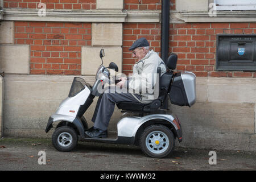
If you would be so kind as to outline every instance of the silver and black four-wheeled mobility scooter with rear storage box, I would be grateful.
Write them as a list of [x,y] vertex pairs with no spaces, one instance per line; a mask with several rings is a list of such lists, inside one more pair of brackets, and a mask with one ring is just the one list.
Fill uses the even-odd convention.
[[[59,151],[71,151],[77,146],[77,141],[104,142],[114,144],[133,144],[140,146],[144,154],[152,158],[164,158],[171,154],[175,140],[182,141],[182,130],[179,119],[174,114],[167,113],[165,101],[170,98],[171,104],[192,106],[196,101],[196,76],[192,72],[178,72],[176,68],[177,55],[171,54],[167,60],[168,71],[160,76],[158,68],[159,97],[149,104],[141,102],[119,102],[123,116],[117,123],[116,138],[88,138],[85,130],[88,123],[84,117],[85,111],[92,104],[94,97],[101,96],[98,90],[109,83],[110,71],[118,72],[115,63],[104,67],[102,64],[96,73],[96,81],[89,85],[83,78],[73,79],[68,98],[63,100],[55,114],[49,117],[46,133],[55,126],[52,134],[52,144]],[[111,122],[111,121],[110,121]],[[54,127],[53,127],[54,128]]]

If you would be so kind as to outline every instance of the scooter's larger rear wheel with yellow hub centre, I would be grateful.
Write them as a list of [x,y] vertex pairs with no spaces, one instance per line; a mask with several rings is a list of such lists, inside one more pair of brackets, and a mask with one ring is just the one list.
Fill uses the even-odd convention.
[[150,125],[141,134],[139,144],[144,154],[152,158],[164,158],[174,149],[175,137],[164,125]]

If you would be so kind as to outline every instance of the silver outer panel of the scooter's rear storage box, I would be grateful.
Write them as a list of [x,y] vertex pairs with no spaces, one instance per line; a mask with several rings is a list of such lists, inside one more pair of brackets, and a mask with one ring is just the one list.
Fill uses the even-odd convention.
[[192,72],[182,72],[181,78],[187,95],[188,104],[192,106],[196,102],[196,75]]

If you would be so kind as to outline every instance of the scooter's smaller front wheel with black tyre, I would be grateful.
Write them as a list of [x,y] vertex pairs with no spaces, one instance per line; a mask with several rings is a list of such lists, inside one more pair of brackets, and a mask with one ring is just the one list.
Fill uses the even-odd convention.
[[61,126],[52,134],[52,144],[59,151],[71,151],[77,146],[77,133],[72,127]]

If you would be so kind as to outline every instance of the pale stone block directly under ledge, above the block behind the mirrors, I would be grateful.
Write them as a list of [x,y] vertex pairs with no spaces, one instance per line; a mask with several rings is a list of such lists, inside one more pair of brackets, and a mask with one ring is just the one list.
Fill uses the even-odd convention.
[[92,23],[92,46],[122,46],[122,23]]

